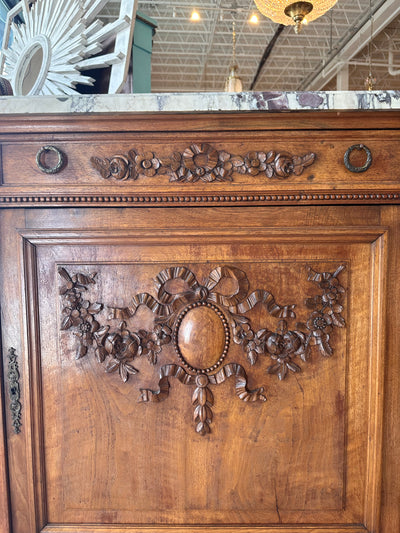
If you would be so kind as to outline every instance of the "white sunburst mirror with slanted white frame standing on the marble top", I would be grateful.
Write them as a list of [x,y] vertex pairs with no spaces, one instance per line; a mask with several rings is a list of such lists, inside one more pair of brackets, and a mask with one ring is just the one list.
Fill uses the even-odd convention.
[[[108,92],[119,92],[128,72],[138,0],[121,0],[119,18],[104,25],[96,16],[108,1],[18,2],[7,16],[0,59],[0,73],[14,95],[78,94],[77,84],[94,82],[82,71],[108,66]],[[23,23],[15,22],[20,14]],[[114,51],[102,54],[110,38],[115,38]]]

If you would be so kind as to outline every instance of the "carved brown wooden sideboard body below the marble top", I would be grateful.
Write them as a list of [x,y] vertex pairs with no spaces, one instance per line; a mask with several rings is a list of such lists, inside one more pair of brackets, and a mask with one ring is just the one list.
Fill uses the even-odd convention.
[[0,531],[400,530],[400,112],[0,118]]

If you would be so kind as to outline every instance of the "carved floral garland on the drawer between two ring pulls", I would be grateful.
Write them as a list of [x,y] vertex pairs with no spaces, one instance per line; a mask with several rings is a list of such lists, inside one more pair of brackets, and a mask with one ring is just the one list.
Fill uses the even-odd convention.
[[173,152],[165,158],[159,158],[153,152],[138,154],[132,149],[127,154],[110,158],[94,156],[90,162],[104,179],[126,181],[136,180],[139,176],[152,178],[167,174],[171,182],[211,183],[233,181],[235,172],[285,180],[292,175],[300,176],[315,158],[316,154],[312,152],[298,156],[273,150],[239,156],[217,150],[208,143],[194,143],[183,152]]

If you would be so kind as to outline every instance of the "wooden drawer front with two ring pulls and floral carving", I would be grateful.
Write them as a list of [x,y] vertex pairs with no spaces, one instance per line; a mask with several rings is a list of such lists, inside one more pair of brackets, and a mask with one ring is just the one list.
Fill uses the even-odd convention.
[[223,193],[240,201],[400,191],[400,136],[387,131],[64,136],[4,143],[2,160],[2,192],[95,191],[150,201]]

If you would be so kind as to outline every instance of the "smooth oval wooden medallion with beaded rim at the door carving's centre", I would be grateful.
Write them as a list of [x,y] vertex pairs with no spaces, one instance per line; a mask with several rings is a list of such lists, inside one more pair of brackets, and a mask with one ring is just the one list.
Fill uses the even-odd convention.
[[224,314],[207,302],[188,305],[177,319],[174,345],[187,369],[205,373],[216,370],[229,348],[229,327]]

